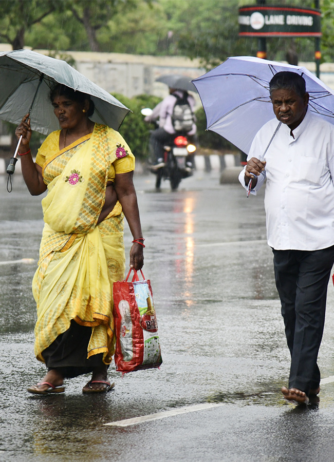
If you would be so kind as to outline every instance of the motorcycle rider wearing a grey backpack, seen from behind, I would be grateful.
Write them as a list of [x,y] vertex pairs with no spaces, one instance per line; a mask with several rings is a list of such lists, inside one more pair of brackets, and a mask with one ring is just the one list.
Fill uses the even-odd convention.
[[[189,138],[193,144],[197,143],[197,127],[195,124],[195,116],[188,131],[177,132],[174,128],[173,111],[174,106],[179,99],[186,100],[194,113],[195,99],[188,91],[179,90],[176,88],[169,89],[170,94],[165,97],[154,109],[151,115],[146,115],[145,122],[157,122],[158,128],[153,130],[150,137],[150,151],[152,156],[152,170],[164,167],[163,146],[174,142],[176,134],[182,134]],[[194,167],[194,155],[187,157],[186,168],[192,170]]]

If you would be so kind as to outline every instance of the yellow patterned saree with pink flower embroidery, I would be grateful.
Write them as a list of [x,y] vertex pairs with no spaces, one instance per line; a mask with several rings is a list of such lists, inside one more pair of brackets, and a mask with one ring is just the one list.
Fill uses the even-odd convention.
[[110,168],[126,156],[133,158],[120,134],[98,124],[62,150],[59,131],[53,132],[39,150],[36,162],[45,160],[48,188],[42,200],[45,226],[39,266],[32,282],[38,314],[35,355],[40,361],[72,319],[92,328],[87,357],[103,353],[106,364],[112,359],[112,287],[125,270],[120,203],[98,225],[97,220]]

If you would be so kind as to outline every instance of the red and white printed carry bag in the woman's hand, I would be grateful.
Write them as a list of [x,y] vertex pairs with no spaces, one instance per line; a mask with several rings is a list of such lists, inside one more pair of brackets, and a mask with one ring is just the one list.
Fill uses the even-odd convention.
[[151,282],[142,272],[140,281],[135,270],[132,282],[128,281],[131,271],[113,287],[115,363],[120,372],[158,368],[162,363]]

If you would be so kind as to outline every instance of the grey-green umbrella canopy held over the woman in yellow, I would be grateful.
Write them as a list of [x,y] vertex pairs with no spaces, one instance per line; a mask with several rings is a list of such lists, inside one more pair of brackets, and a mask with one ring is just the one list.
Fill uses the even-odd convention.
[[30,114],[34,131],[48,134],[59,129],[49,99],[50,88],[55,83],[90,95],[95,104],[94,114],[90,117],[93,122],[118,130],[129,112],[116,98],[65,61],[30,50],[15,50],[0,53],[0,119],[13,124],[21,122],[29,111],[42,74],[43,80]]

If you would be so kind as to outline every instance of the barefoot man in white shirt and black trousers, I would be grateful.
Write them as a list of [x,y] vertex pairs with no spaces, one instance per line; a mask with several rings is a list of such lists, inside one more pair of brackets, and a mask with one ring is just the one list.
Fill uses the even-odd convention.
[[239,181],[256,195],[267,179],[267,238],[291,353],[282,393],[308,403],[320,391],[317,357],[334,262],[334,126],[311,112],[301,75],[278,72],[269,89],[276,119],[257,132]]

